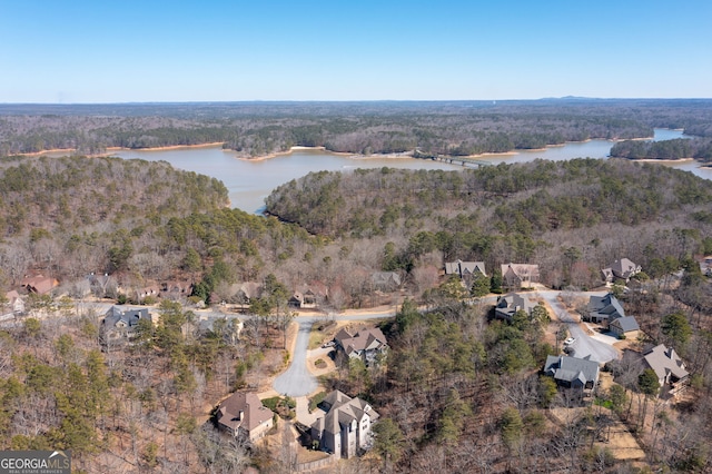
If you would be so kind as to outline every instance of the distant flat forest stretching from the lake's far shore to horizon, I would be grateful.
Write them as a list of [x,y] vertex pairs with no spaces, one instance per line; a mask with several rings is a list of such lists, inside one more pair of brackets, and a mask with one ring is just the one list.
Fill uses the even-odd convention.
[[476,155],[591,138],[710,136],[712,101],[238,102],[0,106],[0,156],[222,142],[245,157],[293,146],[352,154]]

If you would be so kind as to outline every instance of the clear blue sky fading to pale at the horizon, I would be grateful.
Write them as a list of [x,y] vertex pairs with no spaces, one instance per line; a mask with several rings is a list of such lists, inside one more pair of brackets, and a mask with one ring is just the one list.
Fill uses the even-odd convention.
[[0,102],[712,98],[712,1],[0,0]]

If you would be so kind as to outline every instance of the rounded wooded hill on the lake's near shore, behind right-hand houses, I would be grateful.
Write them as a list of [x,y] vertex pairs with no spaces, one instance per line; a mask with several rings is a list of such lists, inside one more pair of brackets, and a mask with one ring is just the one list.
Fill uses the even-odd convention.
[[711,200],[709,182],[690,174],[576,159],[462,172],[322,171],[277,188],[267,211],[314,234],[387,241],[385,269],[417,274],[433,255],[487,268],[535,261],[548,286],[591,287],[614,255],[645,268],[669,254],[680,259],[690,250],[673,250],[682,235],[711,251]]

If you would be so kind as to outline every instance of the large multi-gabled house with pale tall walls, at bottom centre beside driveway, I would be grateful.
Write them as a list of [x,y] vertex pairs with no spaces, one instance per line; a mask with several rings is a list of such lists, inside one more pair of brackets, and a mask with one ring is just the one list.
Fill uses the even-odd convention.
[[319,407],[326,414],[312,425],[312,438],[319,443],[320,450],[338,458],[349,458],[372,446],[370,428],[379,415],[366,402],[334,391]]

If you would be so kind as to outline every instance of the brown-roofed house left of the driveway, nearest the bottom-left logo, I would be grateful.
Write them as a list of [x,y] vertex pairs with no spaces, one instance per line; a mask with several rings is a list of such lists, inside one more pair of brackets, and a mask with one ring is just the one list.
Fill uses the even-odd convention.
[[274,426],[271,409],[254,393],[236,392],[218,405],[218,427],[235,437],[256,441]]

